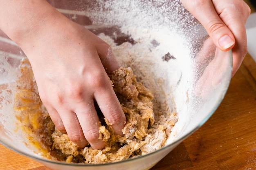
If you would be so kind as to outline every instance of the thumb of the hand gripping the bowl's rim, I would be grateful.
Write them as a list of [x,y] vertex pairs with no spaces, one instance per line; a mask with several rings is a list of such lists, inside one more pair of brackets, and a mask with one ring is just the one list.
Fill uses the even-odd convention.
[[198,19],[202,26],[204,26],[218,49],[228,51],[234,47],[234,35],[219,17],[220,14],[216,12],[212,1],[182,1],[184,7]]

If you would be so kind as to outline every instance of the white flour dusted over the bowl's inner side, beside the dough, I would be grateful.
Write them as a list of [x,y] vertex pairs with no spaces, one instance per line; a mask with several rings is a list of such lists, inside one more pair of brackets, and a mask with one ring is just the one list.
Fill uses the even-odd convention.
[[[159,110],[155,114],[162,115],[170,109],[182,117],[169,137],[167,144],[171,143],[189,119],[185,115],[191,107],[189,96],[195,77],[193,53],[196,53],[191,50],[191,40],[198,35],[185,28],[201,29],[198,22],[191,15],[184,17],[188,11],[180,0],[98,2],[90,18],[95,29],[105,28],[109,35],[101,33],[99,37],[110,44],[121,65],[131,67],[139,81],[153,92],[154,107]],[[112,29],[118,31],[111,32]],[[117,45],[116,40],[123,34],[135,43]],[[166,54],[173,57],[163,60]]]

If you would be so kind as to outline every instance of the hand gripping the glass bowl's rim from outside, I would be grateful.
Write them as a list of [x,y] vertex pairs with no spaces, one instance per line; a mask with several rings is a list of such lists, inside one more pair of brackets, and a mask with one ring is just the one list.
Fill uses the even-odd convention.
[[214,44],[222,51],[232,49],[233,73],[247,53],[245,24],[250,14],[243,0],[181,0],[204,26]]

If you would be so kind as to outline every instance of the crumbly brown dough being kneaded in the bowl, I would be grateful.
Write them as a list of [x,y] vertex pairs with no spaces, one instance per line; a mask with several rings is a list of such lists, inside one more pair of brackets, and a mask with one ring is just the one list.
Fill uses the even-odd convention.
[[[106,142],[102,150],[91,146],[79,148],[67,134],[54,129],[47,110],[40,101],[36,82],[27,59],[20,64],[16,90],[16,117],[24,132],[30,133],[31,144],[44,157],[69,163],[107,163],[145,155],[165,145],[177,122],[175,112],[154,115],[153,94],[137,82],[131,68],[119,68],[109,75],[114,91],[126,115],[124,137],[116,135],[107,119],[101,120],[100,139]],[[155,121],[155,119],[157,121]]]

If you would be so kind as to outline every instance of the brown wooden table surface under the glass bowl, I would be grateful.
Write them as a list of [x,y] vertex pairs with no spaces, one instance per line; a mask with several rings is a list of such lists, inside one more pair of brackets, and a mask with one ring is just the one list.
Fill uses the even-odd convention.
[[[50,168],[0,144],[0,170]],[[256,170],[256,62],[249,54],[213,116],[151,170]]]

